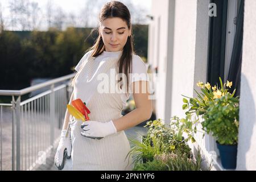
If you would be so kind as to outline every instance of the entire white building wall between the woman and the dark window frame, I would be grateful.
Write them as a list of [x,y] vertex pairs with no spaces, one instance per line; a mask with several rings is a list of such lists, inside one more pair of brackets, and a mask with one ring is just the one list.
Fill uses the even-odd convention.
[[166,122],[184,116],[181,94],[193,97],[196,82],[206,80],[208,5],[205,0],[152,1],[148,62],[158,66],[156,117]]

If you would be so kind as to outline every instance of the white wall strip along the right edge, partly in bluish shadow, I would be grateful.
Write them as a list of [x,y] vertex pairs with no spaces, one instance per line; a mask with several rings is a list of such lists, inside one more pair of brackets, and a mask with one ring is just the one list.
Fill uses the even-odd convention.
[[256,170],[256,1],[245,1],[237,170]]

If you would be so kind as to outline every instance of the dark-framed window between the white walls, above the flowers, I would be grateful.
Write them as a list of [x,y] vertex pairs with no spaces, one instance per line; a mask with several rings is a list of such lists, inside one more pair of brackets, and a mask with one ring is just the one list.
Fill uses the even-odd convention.
[[[207,81],[217,84],[220,76],[233,81],[240,94],[244,0],[212,0],[217,16],[209,19]],[[233,90],[230,90],[233,92]]]

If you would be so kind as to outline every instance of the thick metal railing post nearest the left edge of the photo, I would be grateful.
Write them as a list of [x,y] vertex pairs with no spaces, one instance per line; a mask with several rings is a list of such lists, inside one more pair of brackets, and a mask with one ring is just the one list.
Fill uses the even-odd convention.
[[16,171],[20,171],[20,96],[16,101]]

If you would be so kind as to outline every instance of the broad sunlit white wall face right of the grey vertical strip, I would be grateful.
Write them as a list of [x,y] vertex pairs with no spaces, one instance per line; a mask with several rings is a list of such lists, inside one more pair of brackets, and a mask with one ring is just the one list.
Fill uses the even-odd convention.
[[171,115],[184,117],[182,99],[193,96],[196,45],[196,0],[175,1]]

